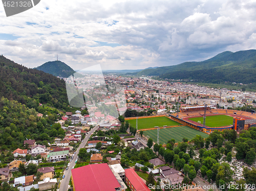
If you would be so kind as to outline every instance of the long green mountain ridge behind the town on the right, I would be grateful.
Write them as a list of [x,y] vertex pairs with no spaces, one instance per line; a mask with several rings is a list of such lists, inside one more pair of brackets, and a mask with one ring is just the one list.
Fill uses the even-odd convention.
[[149,68],[136,76],[159,76],[163,79],[186,79],[196,82],[256,83],[256,50],[223,52],[201,62],[184,62],[173,66]]

